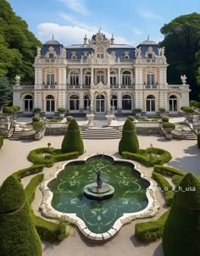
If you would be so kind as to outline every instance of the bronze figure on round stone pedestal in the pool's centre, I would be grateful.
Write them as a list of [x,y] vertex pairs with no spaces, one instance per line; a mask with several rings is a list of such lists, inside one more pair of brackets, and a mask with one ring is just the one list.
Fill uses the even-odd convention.
[[95,170],[95,173],[97,174],[97,183],[91,183],[84,186],[83,191],[86,198],[94,200],[112,198],[114,196],[114,187],[102,181],[101,170]]

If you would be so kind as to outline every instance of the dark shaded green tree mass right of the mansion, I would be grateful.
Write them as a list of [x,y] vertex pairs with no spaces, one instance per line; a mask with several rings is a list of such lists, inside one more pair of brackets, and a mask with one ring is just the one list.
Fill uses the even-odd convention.
[[186,74],[190,84],[191,97],[197,98],[200,88],[197,87],[197,52],[200,46],[200,14],[181,15],[161,28],[165,55],[169,62],[169,83],[180,83],[180,76]]

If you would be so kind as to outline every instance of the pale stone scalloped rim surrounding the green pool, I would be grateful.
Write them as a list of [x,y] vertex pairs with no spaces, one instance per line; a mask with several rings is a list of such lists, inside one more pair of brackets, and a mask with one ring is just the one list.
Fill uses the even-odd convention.
[[[51,192],[50,188],[47,186],[51,181],[57,178],[58,174],[64,170],[67,164],[77,163],[77,162],[86,162],[87,159],[90,159],[97,155],[104,155],[105,157],[113,159],[114,162],[124,162],[124,163],[132,164],[134,166],[134,169],[141,175],[142,180],[147,181],[150,184],[146,192],[146,196],[148,200],[147,207],[136,213],[123,214],[123,216],[121,216],[118,220],[114,222],[114,225],[107,232],[100,233],[100,234],[90,231],[87,228],[85,222],[81,220],[81,218],[79,218],[76,214],[66,214],[66,213],[59,212],[56,209],[53,209],[53,206],[51,203],[53,199],[53,192]],[[159,204],[155,197],[155,191],[153,189],[154,187],[155,186],[154,186],[153,180],[145,177],[142,174],[142,171],[136,167],[136,164],[133,161],[127,160],[127,159],[118,159],[118,158],[115,158],[114,156],[109,156],[107,154],[102,154],[102,153],[92,154],[86,157],[85,159],[77,159],[77,160],[72,159],[67,161],[66,163],[63,164],[63,166],[60,169],[56,170],[56,172],[53,175],[50,175],[45,181],[42,181],[40,185],[40,189],[42,190],[43,197],[42,197],[42,203],[41,203],[40,209],[42,211],[42,215],[47,218],[56,219],[56,220],[62,218],[68,221],[69,223],[76,225],[81,231],[81,234],[83,234],[83,236],[86,237],[87,239],[92,240],[92,242],[106,242],[117,234],[117,232],[120,230],[122,225],[130,223],[132,220],[150,218],[158,214]]]

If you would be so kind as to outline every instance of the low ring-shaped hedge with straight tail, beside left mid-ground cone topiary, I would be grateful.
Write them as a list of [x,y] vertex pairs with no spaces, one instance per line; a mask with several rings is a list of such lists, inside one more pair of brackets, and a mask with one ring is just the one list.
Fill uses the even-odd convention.
[[[42,153],[47,153],[46,156],[42,156]],[[31,152],[28,155],[29,161],[33,164],[44,164],[46,167],[52,167],[55,162],[65,161],[69,159],[77,159],[79,157],[78,152],[61,153],[60,150],[53,147],[40,147]]]

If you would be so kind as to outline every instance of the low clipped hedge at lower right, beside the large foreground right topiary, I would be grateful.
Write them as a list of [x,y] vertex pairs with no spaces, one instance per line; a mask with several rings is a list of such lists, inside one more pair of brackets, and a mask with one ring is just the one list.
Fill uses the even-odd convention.
[[162,214],[157,220],[151,220],[143,223],[136,223],[135,235],[139,241],[154,242],[162,238],[164,223],[169,215],[169,209]]

